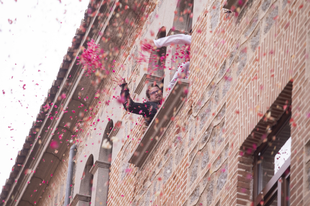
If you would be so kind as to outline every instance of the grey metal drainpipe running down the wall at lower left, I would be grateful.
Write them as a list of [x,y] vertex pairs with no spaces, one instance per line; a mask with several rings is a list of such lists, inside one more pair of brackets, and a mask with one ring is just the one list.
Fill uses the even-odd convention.
[[73,144],[70,148],[67,183],[66,183],[66,195],[64,196],[64,206],[67,206],[70,204],[70,199],[71,199],[70,195],[71,195],[71,187],[72,187],[71,185],[72,185],[73,167],[74,167],[73,157],[75,156],[76,148],[77,148],[76,144]]

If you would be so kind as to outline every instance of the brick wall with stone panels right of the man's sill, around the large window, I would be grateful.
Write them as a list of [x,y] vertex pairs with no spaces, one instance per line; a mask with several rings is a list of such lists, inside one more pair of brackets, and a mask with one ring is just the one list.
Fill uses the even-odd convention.
[[127,163],[134,141],[124,143],[108,205],[249,204],[253,163],[240,146],[291,79],[291,205],[310,201],[309,6],[250,1],[225,19],[223,3],[208,3],[193,27],[187,103],[141,170]]

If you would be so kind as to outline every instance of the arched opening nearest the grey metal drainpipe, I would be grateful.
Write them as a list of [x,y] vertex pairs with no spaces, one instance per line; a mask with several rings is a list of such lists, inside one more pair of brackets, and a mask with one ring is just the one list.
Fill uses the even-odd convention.
[[79,193],[82,195],[91,195],[94,175],[90,173],[90,170],[93,164],[94,164],[94,157],[91,154],[86,161],[86,165],[81,180]]

